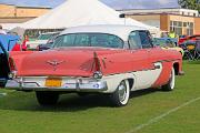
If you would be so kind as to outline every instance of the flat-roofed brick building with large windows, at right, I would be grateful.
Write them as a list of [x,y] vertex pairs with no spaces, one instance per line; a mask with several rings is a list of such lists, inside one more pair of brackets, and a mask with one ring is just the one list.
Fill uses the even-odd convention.
[[200,16],[189,9],[131,9],[120,10],[126,17],[146,24],[160,28],[162,31],[174,31],[177,34],[200,34]]

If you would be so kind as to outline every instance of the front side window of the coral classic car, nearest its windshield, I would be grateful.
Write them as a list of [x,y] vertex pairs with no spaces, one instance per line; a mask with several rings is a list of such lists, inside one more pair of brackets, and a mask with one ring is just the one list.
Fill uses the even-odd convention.
[[139,35],[143,49],[152,48],[152,41],[148,31],[139,31]]

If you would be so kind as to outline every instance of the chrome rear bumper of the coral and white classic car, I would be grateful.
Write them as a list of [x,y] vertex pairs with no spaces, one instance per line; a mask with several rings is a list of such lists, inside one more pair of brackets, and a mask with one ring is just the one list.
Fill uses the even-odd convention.
[[6,88],[18,91],[82,91],[82,92],[102,92],[107,91],[106,81],[88,81],[73,80],[76,82],[66,82],[59,88],[47,88],[39,82],[23,81],[23,80],[8,80]]

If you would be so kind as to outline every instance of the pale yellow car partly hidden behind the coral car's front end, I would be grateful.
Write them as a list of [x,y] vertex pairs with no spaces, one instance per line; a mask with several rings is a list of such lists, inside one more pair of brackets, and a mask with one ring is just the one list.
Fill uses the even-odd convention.
[[184,55],[184,51],[182,48],[177,47],[178,40],[173,38],[154,38],[153,43],[156,45],[161,47],[164,50],[177,50],[181,53],[181,55]]

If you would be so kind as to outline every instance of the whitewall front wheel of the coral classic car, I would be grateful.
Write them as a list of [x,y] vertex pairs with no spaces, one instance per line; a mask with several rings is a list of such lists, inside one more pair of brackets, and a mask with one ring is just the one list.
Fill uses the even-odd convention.
[[172,91],[174,89],[174,84],[176,84],[176,74],[174,74],[174,68],[172,68],[170,79],[166,85],[162,85],[162,90]]

